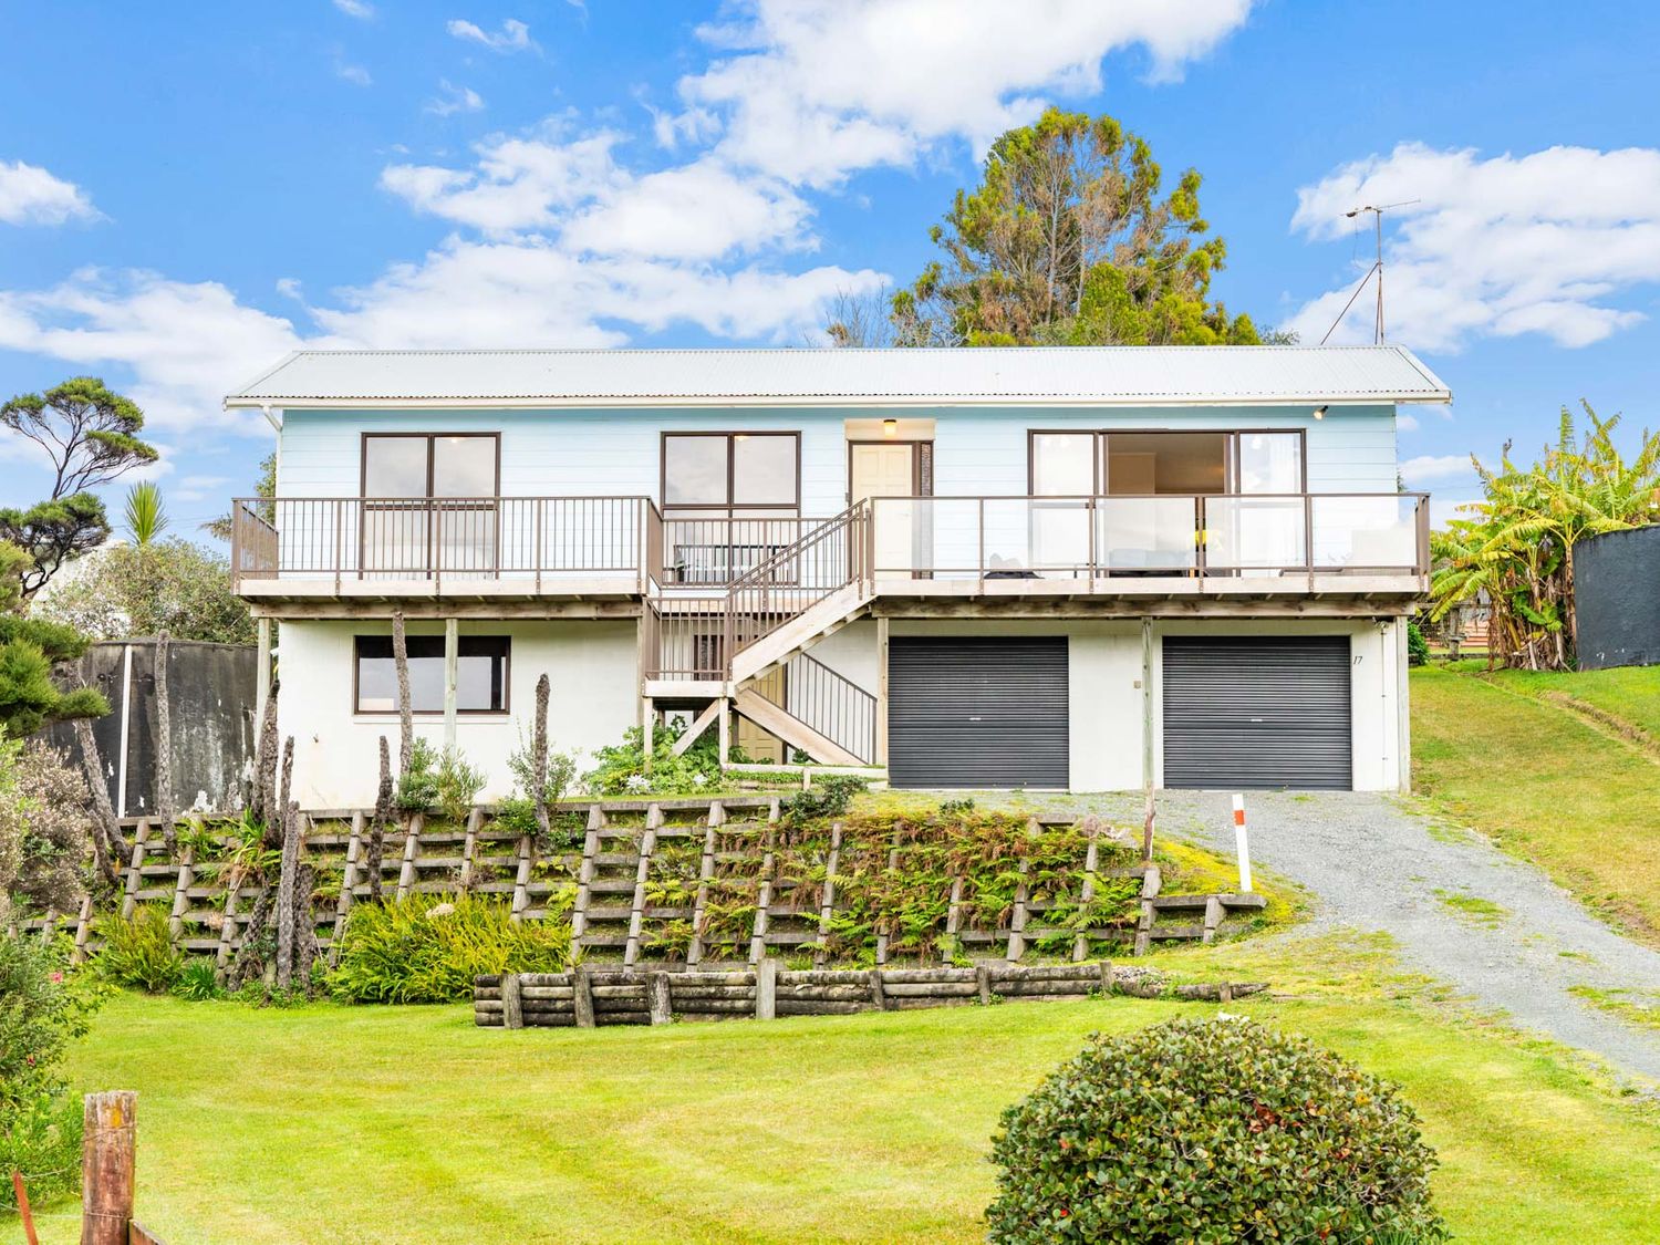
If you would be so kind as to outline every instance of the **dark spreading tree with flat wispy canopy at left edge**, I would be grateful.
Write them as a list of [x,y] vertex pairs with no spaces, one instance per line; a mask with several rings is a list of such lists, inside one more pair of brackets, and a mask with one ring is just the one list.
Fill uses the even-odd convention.
[[0,425],[35,442],[51,460],[51,495],[28,510],[0,510],[0,540],[33,558],[23,574],[30,598],[58,569],[110,536],[110,520],[90,490],[153,463],[139,440],[144,412],[96,377],[75,377],[45,393],[18,393],[0,407]]

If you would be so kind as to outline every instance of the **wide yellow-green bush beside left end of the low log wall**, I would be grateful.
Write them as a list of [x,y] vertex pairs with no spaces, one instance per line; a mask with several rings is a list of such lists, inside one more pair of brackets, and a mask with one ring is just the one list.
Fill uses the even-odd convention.
[[510,906],[463,896],[360,903],[345,920],[340,966],[329,989],[347,1003],[461,1003],[480,973],[561,973],[571,928],[561,921],[515,925]]

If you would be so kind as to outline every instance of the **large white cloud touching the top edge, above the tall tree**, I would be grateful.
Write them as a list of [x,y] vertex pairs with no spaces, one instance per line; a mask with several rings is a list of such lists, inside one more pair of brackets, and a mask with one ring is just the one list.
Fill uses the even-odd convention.
[[908,164],[941,139],[983,146],[1036,118],[1049,96],[1099,90],[1111,51],[1140,46],[1152,76],[1179,76],[1250,7],[744,0],[735,20],[699,30],[719,55],[679,93],[689,111],[720,118],[722,158],[825,186],[855,169]]

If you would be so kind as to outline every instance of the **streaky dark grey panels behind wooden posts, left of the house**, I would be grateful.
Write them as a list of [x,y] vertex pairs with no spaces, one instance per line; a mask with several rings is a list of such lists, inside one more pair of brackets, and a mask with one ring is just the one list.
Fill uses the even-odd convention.
[[[231,812],[241,803],[244,772],[254,757],[257,651],[246,644],[176,639],[168,646],[171,696],[173,803],[184,812],[206,805]],[[93,722],[93,739],[118,815],[156,810],[156,641],[103,641],[80,661],[86,686],[110,701]],[[121,764],[123,729],[126,764]],[[63,724],[46,737],[73,755],[75,732]],[[123,790],[124,777],[124,790]]]

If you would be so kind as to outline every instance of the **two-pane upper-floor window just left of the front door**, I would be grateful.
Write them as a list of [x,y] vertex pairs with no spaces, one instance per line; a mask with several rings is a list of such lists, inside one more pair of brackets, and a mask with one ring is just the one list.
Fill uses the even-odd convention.
[[764,516],[800,508],[800,435],[666,432],[662,508]]

